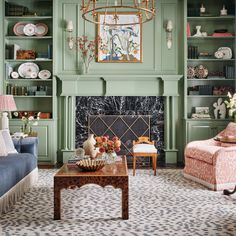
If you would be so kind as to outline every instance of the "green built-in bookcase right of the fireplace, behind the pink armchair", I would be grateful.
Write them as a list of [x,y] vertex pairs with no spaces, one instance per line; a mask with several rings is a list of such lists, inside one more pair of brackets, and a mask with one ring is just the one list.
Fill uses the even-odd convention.
[[[231,120],[224,101],[228,92],[235,92],[235,1],[185,0],[185,27],[185,121],[189,142],[212,137]],[[200,108],[207,112],[198,113]]]

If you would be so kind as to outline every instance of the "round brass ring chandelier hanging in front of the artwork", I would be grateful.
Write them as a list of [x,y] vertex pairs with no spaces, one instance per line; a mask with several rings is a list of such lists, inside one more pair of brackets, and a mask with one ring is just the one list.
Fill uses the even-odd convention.
[[[81,11],[83,19],[94,24],[108,26],[136,25],[154,18],[154,2],[155,0],[82,0]],[[130,18],[125,22],[120,22],[119,13],[121,12],[136,14],[137,18],[136,20]],[[102,21],[98,19],[98,15],[101,13],[104,14]]]

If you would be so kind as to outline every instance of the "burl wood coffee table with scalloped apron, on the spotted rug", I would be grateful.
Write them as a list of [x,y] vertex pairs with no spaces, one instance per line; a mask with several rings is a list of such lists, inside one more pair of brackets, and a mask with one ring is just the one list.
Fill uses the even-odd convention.
[[129,218],[129,178],[126,156],[95,172],[81,171],[75,164],[64,164],[54,176],[54,220],[61,219],[61,190],[97,184],[122,190],[122,218]]

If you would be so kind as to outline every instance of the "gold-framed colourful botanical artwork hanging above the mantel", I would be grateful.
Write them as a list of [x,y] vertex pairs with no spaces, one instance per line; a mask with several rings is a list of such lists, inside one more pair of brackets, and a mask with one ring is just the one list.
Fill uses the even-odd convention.
[[[117,12],[116,21],[139,22],[137,13]],[[99,13],[97,26],[98,62],[102,63],[140,63],[142,62],[142,24],[108,26],[102,22],[114,23],[114,13]]]

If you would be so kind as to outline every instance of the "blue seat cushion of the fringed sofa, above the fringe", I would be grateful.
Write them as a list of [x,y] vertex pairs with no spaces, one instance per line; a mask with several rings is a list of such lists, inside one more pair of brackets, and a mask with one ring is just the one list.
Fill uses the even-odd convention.
[[0,157],[0,197],[37,167],[37,158],[29,153]]

